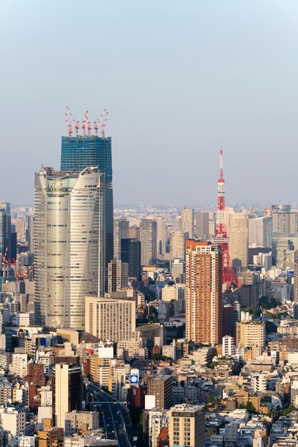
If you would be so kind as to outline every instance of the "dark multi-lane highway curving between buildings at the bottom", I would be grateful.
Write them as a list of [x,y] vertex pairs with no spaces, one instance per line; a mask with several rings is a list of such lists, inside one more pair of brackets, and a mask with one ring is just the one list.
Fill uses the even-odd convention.
[[131,447],[131,420],[126,406],[94,383],[89,385],[88,392],[91,406],[101,413],[106,437],[116,439],[120,447]]

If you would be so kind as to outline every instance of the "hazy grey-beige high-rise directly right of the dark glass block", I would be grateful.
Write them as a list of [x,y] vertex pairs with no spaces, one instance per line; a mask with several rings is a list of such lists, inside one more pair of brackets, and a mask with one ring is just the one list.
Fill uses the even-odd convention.
[[141,265],[150,266],[157,262],[157,222],[141,219],[139,226],[141,241]]

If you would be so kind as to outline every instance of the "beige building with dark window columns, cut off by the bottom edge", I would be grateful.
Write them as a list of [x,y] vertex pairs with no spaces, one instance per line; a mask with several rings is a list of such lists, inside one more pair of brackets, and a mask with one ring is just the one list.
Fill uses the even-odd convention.
[[204,406],[182,403],[170,408],[169,446],[205,446]]

